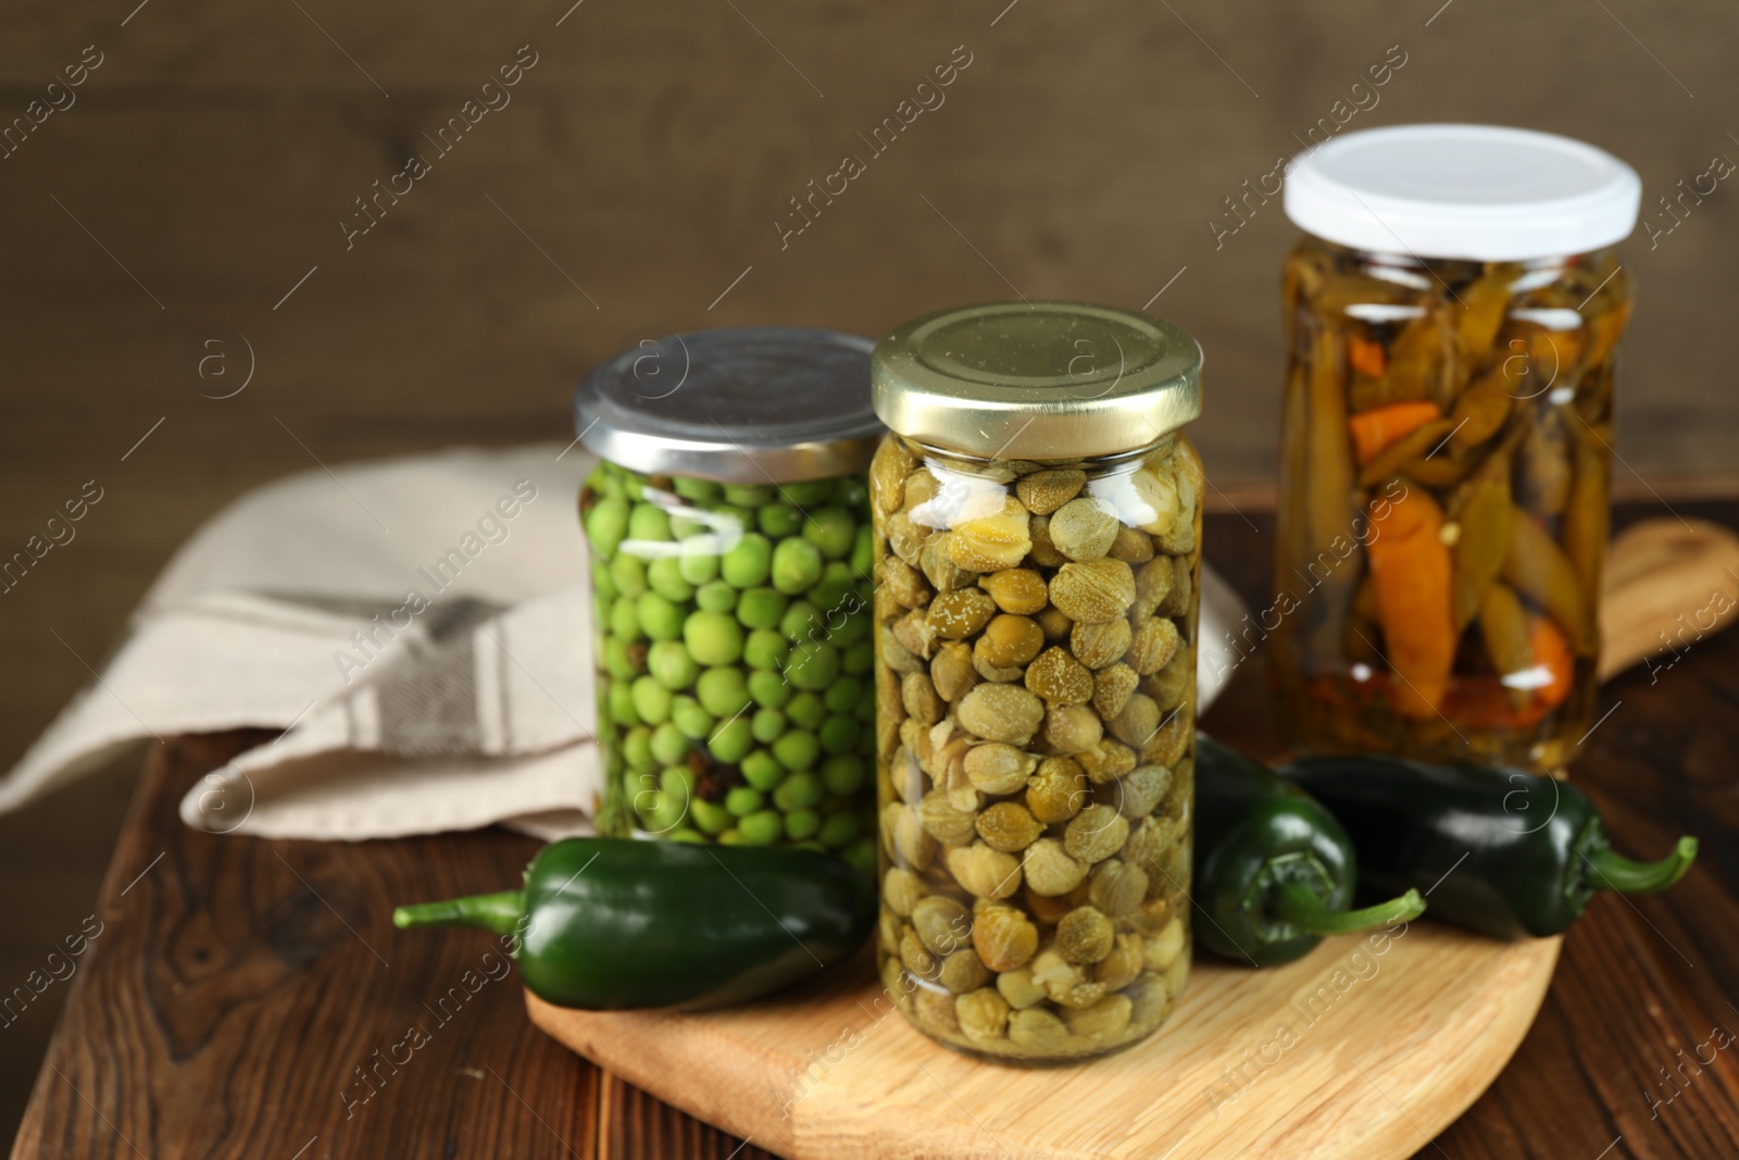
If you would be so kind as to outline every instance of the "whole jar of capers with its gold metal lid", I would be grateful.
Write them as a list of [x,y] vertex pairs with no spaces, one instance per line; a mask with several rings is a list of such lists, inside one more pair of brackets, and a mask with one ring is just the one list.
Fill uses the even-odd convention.
[[876,346],[876,955],[951,1047],[1096,1056],[1188,977],[1200,367],[1071,303]]

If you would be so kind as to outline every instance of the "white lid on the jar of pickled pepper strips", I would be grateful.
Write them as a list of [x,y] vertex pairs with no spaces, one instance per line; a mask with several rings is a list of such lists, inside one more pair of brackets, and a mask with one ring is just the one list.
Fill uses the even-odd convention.
[[1285,207],[1318,238],[1383,254],[1518,261],[1629,237],[1636,170],[1582,141],[1502,125],[1393,125],[1287,167]]

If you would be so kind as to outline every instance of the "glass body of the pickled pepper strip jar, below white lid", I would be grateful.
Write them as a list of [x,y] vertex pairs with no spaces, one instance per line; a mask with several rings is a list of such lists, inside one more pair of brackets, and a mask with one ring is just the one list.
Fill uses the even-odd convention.
[[1416,259],[1306,237],[1289,367],[1271,635],[1303,751],[1548,770],[1595,708],[1612,250]]

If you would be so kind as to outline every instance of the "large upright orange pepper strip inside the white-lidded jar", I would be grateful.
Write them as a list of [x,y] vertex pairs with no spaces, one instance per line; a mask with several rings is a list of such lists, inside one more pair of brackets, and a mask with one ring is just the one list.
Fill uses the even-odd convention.
[[1370,504],[1370,579],[1389,668],[1402,678],[1395,711],[1402,717],[1436,713],[1456,661],[1456,626],[1450,612],[1452,565],[1443,544],[1443,511],[1419,489],[1400,499]]

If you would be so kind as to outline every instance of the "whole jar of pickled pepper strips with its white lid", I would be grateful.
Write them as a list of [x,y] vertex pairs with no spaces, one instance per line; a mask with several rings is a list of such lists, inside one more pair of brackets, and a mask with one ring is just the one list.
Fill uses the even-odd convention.
[[1593,723],[1610,249],[1640,183],[1565,137],[1353,132],[1294,160],[1273,633],[1315,753],[1549,770]]

